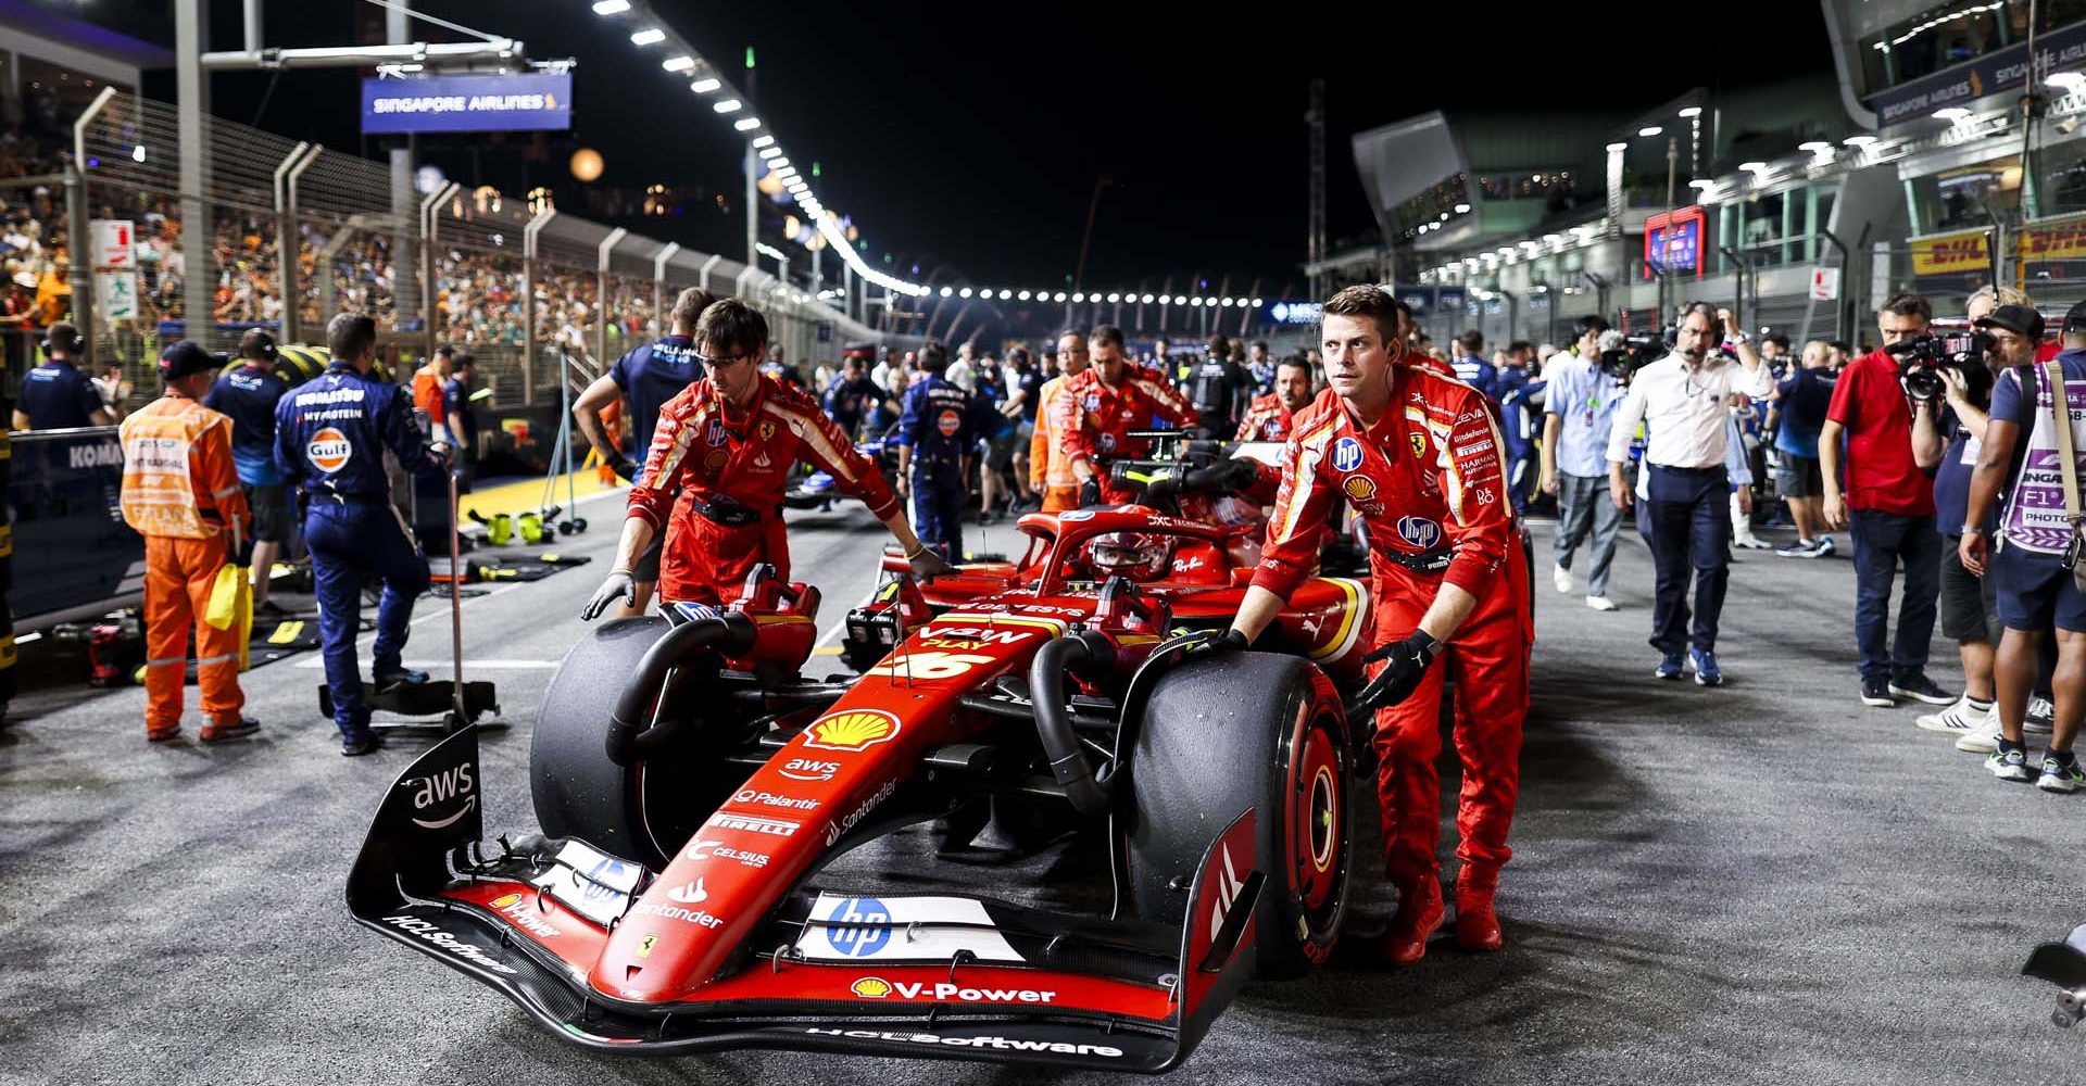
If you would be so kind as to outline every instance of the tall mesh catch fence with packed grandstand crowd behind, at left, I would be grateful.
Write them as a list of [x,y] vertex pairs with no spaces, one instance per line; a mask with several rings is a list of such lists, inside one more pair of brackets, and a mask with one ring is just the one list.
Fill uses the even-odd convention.
[[[532,215],[492,188],[394,194],[382,163],[215,117],[204,119],[204,169],[184,183],[175,108],[115,90],[73,131],[73,250],[90,250],[90,221],[129,221],[136,238],[136,267],[86,269],[75,286],[94,304],[75,308],[90,359],[121,359],[134,381],[169,338],[232,350],[259,325],[313,344],[334,313],[353,311],[407,348],[401,369],[455,344],[480,359],[499,402],[534,404],[557,398],[563,371],[544,365],[544,348],[605,365],[659,336],[665,306],[688,286],[759,306],[793,363],[839,356],[843,342],[918,340],[878,334],[736,261],[565,213]],[[136,300],[111,306],[96,290],[104,275],[129,277]]]

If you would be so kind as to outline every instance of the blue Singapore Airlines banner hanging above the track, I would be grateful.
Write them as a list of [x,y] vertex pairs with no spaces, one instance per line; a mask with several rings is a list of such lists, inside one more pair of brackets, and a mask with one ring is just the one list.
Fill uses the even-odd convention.
[[363,79],[363,135],[569,127],[572,73]]

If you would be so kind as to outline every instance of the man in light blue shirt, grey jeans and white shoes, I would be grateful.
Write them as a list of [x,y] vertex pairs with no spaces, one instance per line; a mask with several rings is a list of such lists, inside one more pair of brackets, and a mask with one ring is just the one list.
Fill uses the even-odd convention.
[[1573,354],[1552,361],[1544,400],[1544,492],[1558,498],[1550,582],[1558,592],[1573,590],[1573,554],[1592,532],[1585,604],[1594,611],[1615,611],[1608,565],[1615,563],[1615,534],[1623,525],[1623,511],[1608,494],[1606,454],[1615,409],[1629,392],[1627,381],[1600,365],[1604,331],[1608,321],[1579,317],[1579,342],[1573,344]]

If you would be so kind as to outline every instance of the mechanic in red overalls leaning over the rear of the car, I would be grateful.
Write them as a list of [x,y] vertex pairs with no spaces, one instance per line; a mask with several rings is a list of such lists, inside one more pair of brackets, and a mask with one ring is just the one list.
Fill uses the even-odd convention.
[[1095,325],[1087,338],[1093,365],[1064,381],[1051,400],[1051,436],[1078,477],[1078,504],[1124,504],[1137,500],[1137,488],[1108,477],[1114,456],[1141,459],[1149,442],[1131,438],[1133,429],[1151,429],[1151,419],[1172,425],[1195,425],[1195,409],[1181,398],[1158,369],[1122,356],[1122,329]]

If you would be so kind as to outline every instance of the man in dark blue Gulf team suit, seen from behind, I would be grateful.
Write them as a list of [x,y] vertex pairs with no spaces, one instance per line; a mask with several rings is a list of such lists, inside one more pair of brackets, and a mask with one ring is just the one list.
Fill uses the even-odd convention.
[[384,746],[369,727],[369,702],[363,700],[355,661],[365,575],[384,582],[378,640],[369,650],[375,688],[428,682],[426,671],[409,671],[401,661],[413,600],[428,590],[428,559],[392,507],[384,450],[415,475],[440,477],[448,469],[448,444],[428,442],[398,386],[369,377],[378,361],[373,319],[342,313],[325,325],[325,342],[332,348],[325,373],[275,404],[275,471],[284,486],[305,496],[305,546],[319,596],[325,686],[334,698],[340,752],[359,757]]

